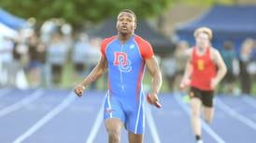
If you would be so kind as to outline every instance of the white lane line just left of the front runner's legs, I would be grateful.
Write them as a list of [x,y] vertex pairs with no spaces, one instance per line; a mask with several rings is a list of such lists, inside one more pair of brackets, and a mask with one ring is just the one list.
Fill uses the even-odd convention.
[[104,103],[105,103],[106,97],[103,99],[103,103],[100,107],[100,110],[98,111],[95,122],[92,125],[91,132],[86,139],[86,143],[92,143],[100,129],[100,125],[103,122],[103,113],[104,113],[103,111],[104,111]]

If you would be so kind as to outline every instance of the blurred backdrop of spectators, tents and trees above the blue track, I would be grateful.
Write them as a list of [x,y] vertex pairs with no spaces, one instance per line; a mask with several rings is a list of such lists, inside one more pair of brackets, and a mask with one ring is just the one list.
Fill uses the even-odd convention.
[[[228,67],[219,92],[255,95],[254,0],[8,0],[0,1],[0,86],[73,88],[97,63],[103,38],[116,34],[119,11],[138,17],[136,34],[153,45],[163,92],[178,89],[192,32],[207,26]],[[144,80],[147,84],[148,74]],[[92,90],[106,90],[106,76]],[[148,83],[149,84],[149,83]]]

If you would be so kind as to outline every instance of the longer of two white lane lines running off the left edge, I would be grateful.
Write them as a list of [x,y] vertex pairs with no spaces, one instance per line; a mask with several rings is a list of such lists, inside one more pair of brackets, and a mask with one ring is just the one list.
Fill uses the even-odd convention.
[[21,101],[18,101],[16,103],[8,106],[7,108],[0,110],[0,117],[5,116],[12,111],[21,109],[22,107],[35,101],[37,98],[41,97],[42,95],[43,95],[42,90],[40,90],[40,89],[36,90],[33,94],[31,94],[31,96],[24,97],[21,99]]

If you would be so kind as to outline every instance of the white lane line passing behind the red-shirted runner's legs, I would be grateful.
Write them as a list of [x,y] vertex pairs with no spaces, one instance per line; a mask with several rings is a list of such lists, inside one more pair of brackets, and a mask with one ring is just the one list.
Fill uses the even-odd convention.
[[[178,105],[184,110],[190,117],[191,117],[191,111],[188,107],[185,106],[185,104],[182,103],[182,99],[180,95],[174,96],[176,101],[178,102]],[[206,131],[206,133],[210,136],[212,136],[216,142],[218,143],[225,143],[225,141],[204,121],[201,119],[202,127]]]

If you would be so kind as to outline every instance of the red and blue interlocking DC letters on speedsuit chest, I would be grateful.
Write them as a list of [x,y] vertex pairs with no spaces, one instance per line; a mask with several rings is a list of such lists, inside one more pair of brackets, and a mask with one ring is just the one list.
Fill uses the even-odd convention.
[[115,52],[114,65],[119,67],[120,71],[129,72],[132,71],[131,61],[124,52]]

